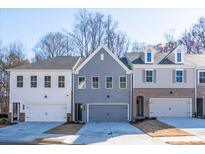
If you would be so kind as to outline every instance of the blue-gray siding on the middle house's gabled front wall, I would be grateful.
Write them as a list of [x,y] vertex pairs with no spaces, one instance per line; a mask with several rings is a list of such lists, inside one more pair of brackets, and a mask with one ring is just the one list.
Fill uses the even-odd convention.
[[[104,53],[103,61],[100,59],[101,53]],[[86,77],[86,89],[78,89],[78,76]],[[92,76],[99,76],[99,89],[91,88]],[[105,88],[106,76],[113,77],[113,89]],[[126,89],[119,89],[119,76],[127,76]],[[131,75],[126,74],[126,71],[103,48],[79,71],[79,74],[74,75],[74,81],[74,103],[82,103],[84,106],[83,122],[87,120],[87,104],[130,104],[131,102]]]

